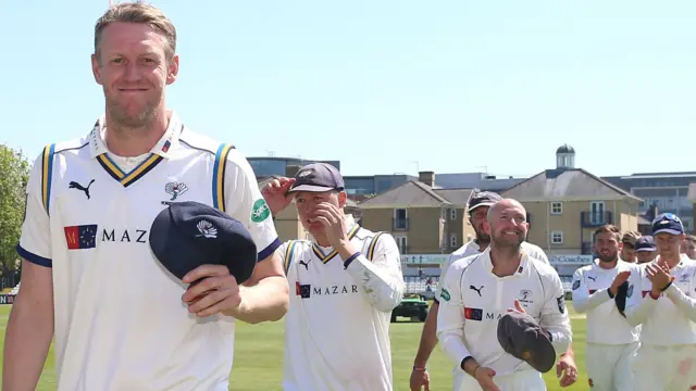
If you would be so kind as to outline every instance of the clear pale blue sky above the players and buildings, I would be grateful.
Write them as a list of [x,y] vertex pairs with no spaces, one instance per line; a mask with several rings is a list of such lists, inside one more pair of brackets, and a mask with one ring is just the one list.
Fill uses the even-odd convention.
[[[523,176],[569,143],[597,175],[696,171],[694,1],[152,3],[179,35],[169,105],[248,156]],[[0,1],[0,142],[90,130],[107,5]]]

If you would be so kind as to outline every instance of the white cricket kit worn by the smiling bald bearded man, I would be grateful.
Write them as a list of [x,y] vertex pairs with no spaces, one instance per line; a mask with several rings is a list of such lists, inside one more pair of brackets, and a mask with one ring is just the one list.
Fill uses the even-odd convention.
[[[502,391],[545,390],[542,374],[506,353],[498,342],[498,320],[514,307],[515,300],[550,332],[557,354],[564,353],[572,332],[556,269],[524,254],[514,275],[497,277],[489,249],[449,267],[440,294],[437,337],[456,366],[471,355],[481,366],[493,368],[494,381]],[[462,390],[480,389],[472,377],[464,384]]]

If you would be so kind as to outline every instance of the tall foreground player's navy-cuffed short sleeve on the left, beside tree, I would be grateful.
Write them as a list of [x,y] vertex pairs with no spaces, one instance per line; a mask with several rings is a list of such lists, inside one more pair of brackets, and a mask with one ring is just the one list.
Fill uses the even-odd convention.
[[[47,156],[47,159],[50,157]],[[22,236],[16,247],[20,256],[46,267],[52,266],[51,227],[47,211],[50,200],[48,187],[50,186],[51,169],[51,164],[44,164],[44,153],[34,162],[26,187]]]

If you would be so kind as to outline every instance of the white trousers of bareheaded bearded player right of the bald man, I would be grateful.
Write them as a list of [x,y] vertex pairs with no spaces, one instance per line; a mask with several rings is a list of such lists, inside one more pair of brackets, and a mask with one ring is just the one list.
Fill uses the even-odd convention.
[[585,368],[592,391],[634,391],[633,360],[638,342],[599,344],[587,342]]

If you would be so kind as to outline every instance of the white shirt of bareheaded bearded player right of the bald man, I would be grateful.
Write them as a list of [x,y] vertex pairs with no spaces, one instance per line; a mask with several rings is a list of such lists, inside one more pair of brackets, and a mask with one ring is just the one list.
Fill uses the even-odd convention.
[[[599,260],[583,266],[573,275],[573,307],[580,314],[587,314],[587,342],[601,344],[626,344],[638,341],[639,327],[629,324],[609,297],[609,288],[620,272],[639,274],[637,266],[619,260],[610,269],[599,266]],[[638,294],[629,281],[626,295]],[[629,299],[626,299],[627,301]]]

